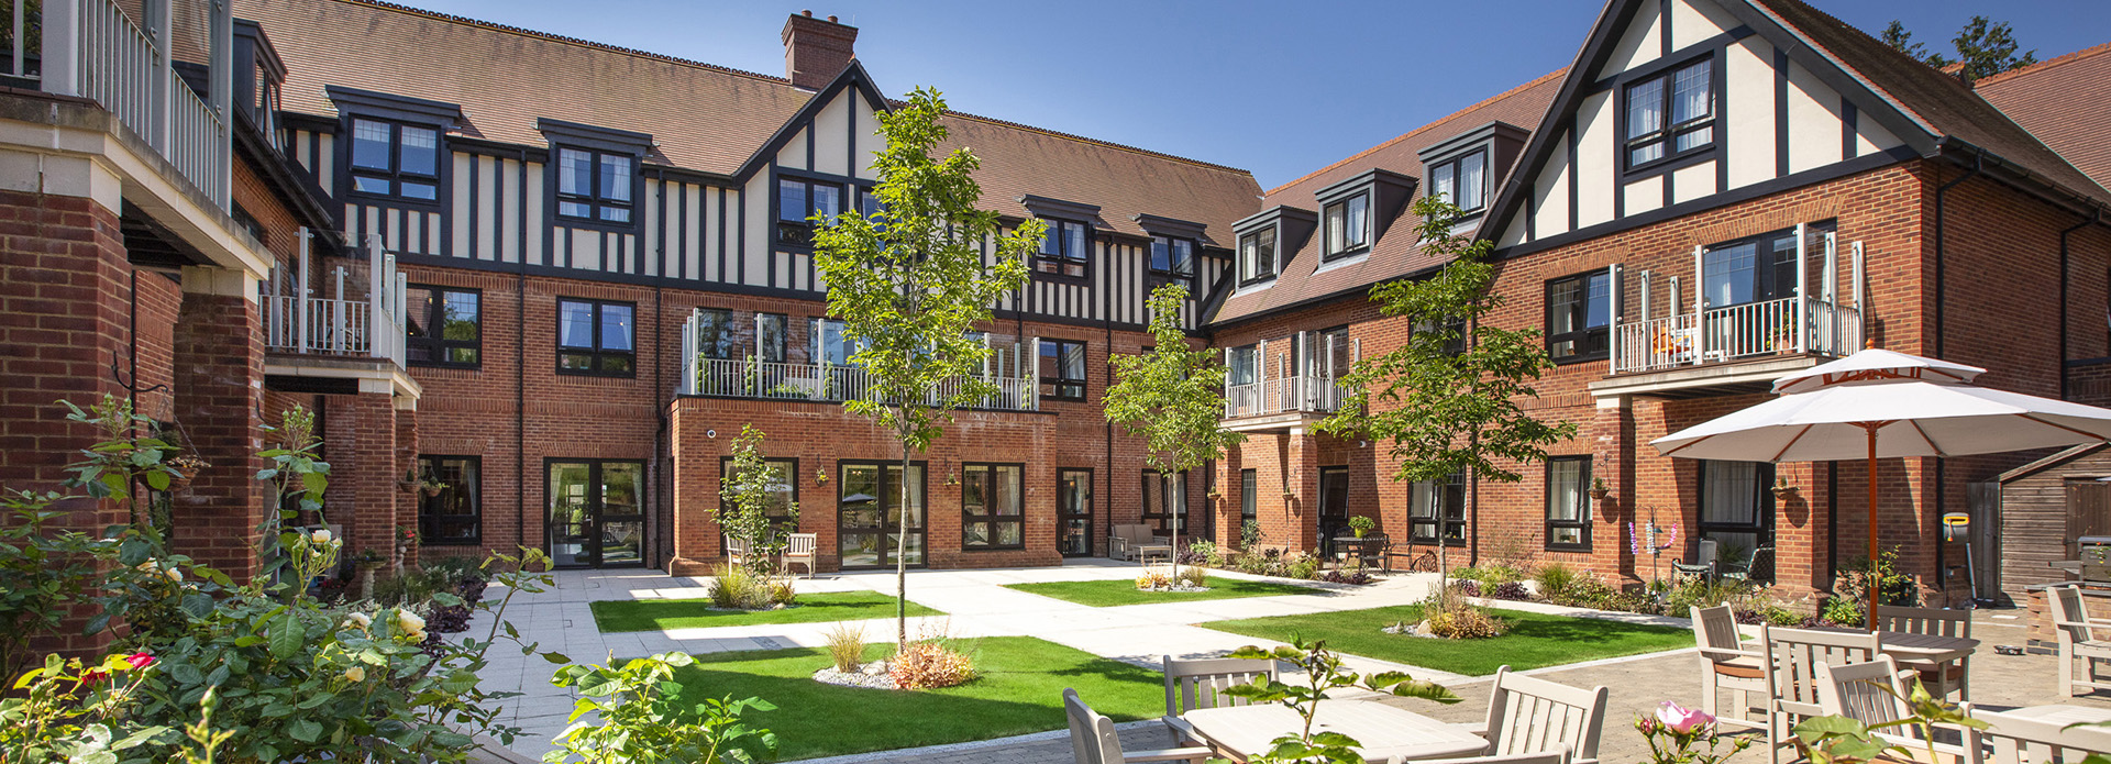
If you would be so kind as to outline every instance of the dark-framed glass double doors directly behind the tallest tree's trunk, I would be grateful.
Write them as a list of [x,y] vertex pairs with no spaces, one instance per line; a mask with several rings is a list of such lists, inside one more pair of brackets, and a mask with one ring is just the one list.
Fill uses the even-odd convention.
[[[842,568],[893,568],[901,528],[901,462],[842,462],[836,553]],[[910,538],[904,561],[925,564],[925,466],[910,464]]]

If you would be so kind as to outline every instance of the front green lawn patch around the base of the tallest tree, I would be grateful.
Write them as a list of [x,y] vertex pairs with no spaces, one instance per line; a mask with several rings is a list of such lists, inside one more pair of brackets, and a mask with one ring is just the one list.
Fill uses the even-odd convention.
[[[697,656],[678,669],[684,701],[758,696],[777,711],[745,718],[777,732],[777,760],[891,751],[918,745],[984,741],[1062,728],[1062,690],[1117,722],[1165,713],[1165,682],[1157,671],[1098,658],[1034,637],[986,637],[954,644],[975,658],[975,682],[944,690],[866,690],[821,684],[821,650],[724,652]],[[893,644],[866,646],[866,658],[893,654]]]

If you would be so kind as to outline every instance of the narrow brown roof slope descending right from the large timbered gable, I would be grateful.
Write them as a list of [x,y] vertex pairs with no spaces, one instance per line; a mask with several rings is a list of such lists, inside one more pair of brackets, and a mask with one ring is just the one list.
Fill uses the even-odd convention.
[[1754,4],[1889,95],[1932,133],[1999,154],[2067,192],[2111,205],[2111,190],[2075,169],[1959,78],[1936,72],[1803,0],[1754,0]]

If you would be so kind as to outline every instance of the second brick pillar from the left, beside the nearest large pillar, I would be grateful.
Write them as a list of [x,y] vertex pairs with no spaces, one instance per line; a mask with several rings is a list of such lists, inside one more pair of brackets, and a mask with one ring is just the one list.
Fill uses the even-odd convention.
[[222,268],[184,268],[175,323],[175,416],[211,469],[171,507],[171,547],[236,580],[258,568],[260,526],[274,511],[264,460],[264,338],[255,283]]

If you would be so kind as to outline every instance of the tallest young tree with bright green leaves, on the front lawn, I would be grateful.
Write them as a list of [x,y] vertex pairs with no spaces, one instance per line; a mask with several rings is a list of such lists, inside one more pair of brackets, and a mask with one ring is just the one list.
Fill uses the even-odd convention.
[[[901,504],[895,538],[897,648],[908,646],[910,456],[944,435],[952,412],[999,395],[982,378],[988,346],[973,336],[990,306],[1026,285],[1026,255],[1045,224],[1028,219],[1003,234],[996,211],[977,209],[982,165],[946,141],[946,101],[916,89],[880,114],[885,148],[874,152],[880,209],[817,219],[815,266],[828,283],[828,312],[842,319],[851,363],[866,388],[844,409],[870,416],[901,441]],[[984,260],[984,245],[990,257]]]

